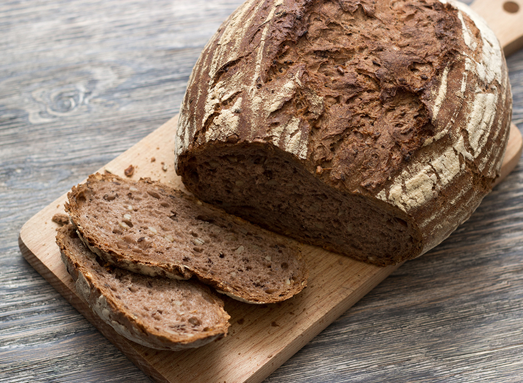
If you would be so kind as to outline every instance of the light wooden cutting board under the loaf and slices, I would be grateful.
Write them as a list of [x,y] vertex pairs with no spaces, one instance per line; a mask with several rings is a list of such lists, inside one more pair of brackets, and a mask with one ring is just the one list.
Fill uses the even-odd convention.
[[[490,17],[488,22],[499,34],[512,29],[509,23],[500,22],[501,17],[505,17],[507,12],[518,13],[510,11],[514,8],[496,13],[492,11],[492,6],[496,4],[501,9],[507,3],[511,2],[477,0],[474,5],[481,14]],[[521,29],[523,23],[518,22]],[[523,42],[521,33],[517,36],[498,36],[502,45],[511,50],[519,48]],[[169,120],[100,172],[109,171],[124,176],[124,170],[132,165],[134,173],[131,178],[151,177],[185,190],[173,165],[176,122],[177,117]],[[521,148],[521,134],[513,125],[498,182],[516,166]],[[22,254],[101,333],[156,381],[260,382],[398,267],[372,266],[303,245],[311,275],[308,287],[298,296],[263,306],[225,298],[225,309],[231,315],[228,336],[196,350],[156,351],[118,335],[110,326],[99,321],[76,293],[54,242],[59,226],[52,221],[52,217],[55,213],[64,212],[65,200],[66,195],[56,199],[22,227],[19,236]]]

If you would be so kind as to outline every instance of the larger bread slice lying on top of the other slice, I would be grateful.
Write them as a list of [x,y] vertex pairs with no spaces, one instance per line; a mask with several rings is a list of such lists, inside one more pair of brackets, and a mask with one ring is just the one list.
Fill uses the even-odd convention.
[[305,261],[289,240],[151,179],[94,174],[68,197],[81,238],[119,267],[196,276],[249,303],[282,301],[306,285]]

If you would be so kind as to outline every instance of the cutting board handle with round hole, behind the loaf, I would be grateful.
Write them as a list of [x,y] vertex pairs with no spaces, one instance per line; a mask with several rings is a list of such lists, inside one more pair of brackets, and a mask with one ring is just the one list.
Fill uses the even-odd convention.
[[471,8],[496,33],[506,56],[523,48],[523,0],[475,0]]

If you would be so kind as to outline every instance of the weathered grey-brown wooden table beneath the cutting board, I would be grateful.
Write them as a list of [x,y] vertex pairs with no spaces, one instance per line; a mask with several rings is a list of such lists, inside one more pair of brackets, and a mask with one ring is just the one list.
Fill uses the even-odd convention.
[[[177,113],[203,45],[238,4],[0,4],[0,382],[150,381],[24,260],[18,233]],[[523,128],[523,51],[507,61]],[[518,166],[448,240],[266,382],[521,381],[522,181]]]

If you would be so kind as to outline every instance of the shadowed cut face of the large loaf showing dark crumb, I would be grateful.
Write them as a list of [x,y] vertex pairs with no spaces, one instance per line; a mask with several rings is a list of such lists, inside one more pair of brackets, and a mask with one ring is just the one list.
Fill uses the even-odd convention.
[[404,211],[333,191],[279,149],[214,145],[180,163],[185,185],[200,198],[305,243],[382,265],[422,249]]

